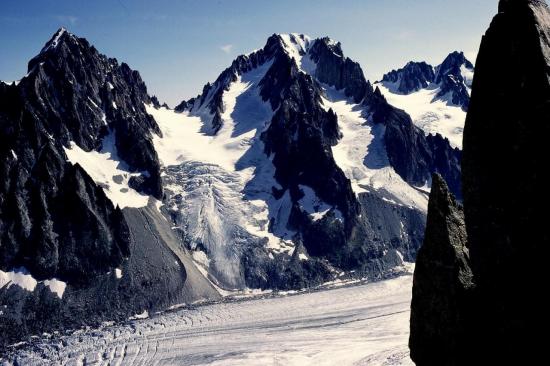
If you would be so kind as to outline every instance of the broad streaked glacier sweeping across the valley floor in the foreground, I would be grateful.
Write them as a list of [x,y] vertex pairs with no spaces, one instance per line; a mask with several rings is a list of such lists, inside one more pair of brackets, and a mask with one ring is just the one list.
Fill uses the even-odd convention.
[[[179,309],[19,345],[20,365],[413,365],[412,275]],[[0,363],[1,363],[0,358]],[[17,364],[15,360],[6,365]]]

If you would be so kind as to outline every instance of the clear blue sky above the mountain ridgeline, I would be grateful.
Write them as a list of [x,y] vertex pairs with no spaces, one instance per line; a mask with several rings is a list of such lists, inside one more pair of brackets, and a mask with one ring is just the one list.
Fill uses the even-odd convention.
[[[379,79],[410,60],[474,58],[498,0],[1,0],[0,80],[20,79],[60,26],[140,71],[174,105],[273,33],[328,35]],[[472,62],[475,60],[472,59]]]

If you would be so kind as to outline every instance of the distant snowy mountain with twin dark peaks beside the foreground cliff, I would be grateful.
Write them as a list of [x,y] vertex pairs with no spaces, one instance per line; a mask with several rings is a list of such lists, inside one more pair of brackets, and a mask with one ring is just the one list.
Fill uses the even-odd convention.
[[470,103],[474,66],[462,52],[441,65],[409,62],[377,82],[387,100],[405,110],[426,134],[441,134],[462,148],[464,121]]

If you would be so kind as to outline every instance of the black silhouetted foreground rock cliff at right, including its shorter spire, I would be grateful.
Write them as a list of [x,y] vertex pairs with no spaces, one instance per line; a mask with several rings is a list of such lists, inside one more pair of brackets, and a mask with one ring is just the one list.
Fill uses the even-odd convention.
[[[418,365],[544,362],[540,334],[548,312],[540,296],[550,244],[543,229],[549,203],[543,178],[548,165],[543,140],[550,128],[549,40],[550,11],[545,2],[534,0],[501,1],[483,37],[463,158],[467,238],[461,245],[469,250],[475,289],[471,296],[457,297],[456,265],[453,279],[442,287],[436,288],[435,281],[449,272],[437,280],[421,280],[418,273],[411,315],[411,355]],[[509,75],[505,79],[504,73]],[[493,143],[486,144],[487,139]],[[437,206],[434,210],[444,210],[447,203]],[[427,233],[434,231],[445,234],[448,224],[431,221]],[[433,242],[427,235],[425,245],[443,250],[455,239],[453,232]],[[417,266],[437,270],[435,264],[446,258],[459,259],[426,250]],[[427,312],[430,299],[441,297],[456,308],[445,311],[447,333],[438,344],[459,349],[462,358],[456,352],[441,355],[422,338],[429,327],[441,324],[441,316]],[[424,331],[419,324],[426,324]]]

